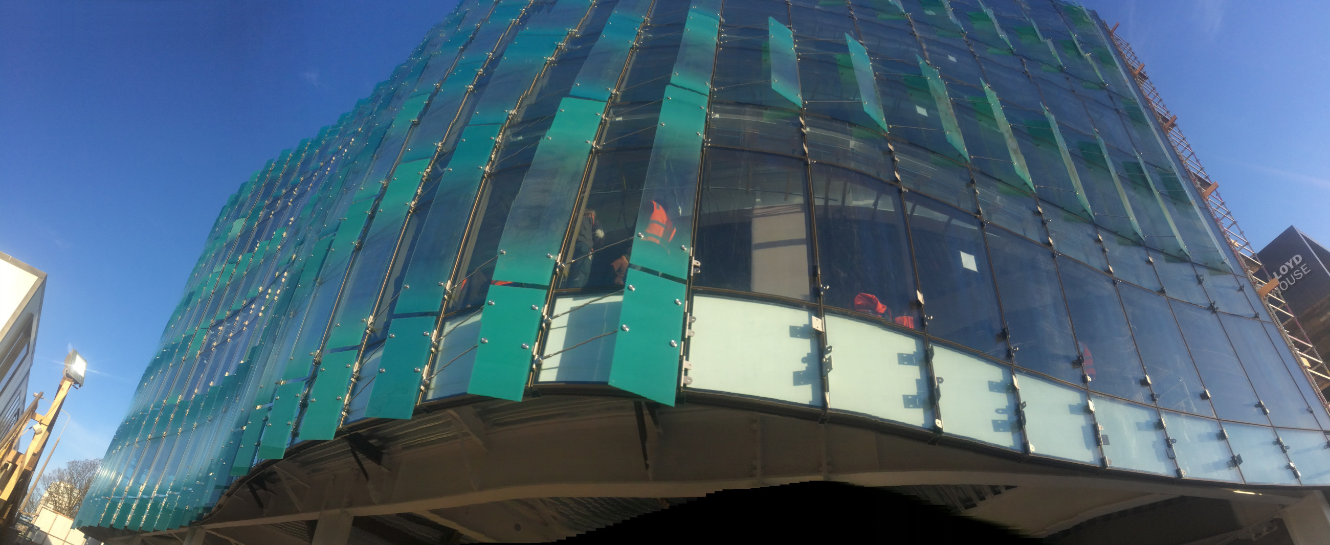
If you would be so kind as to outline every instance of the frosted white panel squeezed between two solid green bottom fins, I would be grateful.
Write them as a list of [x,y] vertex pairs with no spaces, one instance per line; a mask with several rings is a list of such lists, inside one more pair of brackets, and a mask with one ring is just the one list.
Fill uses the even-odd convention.
[[[540,363],[536,380],[548,383],[604,383],[609,380],[609,360],[614,354],[614,336],[601,336],[618,327],[622,295],[573,295],[555,299],[555,318],[549,324],[544,354],[557,355]],[[577,308],[580,307],[580,308]],[[569,312],[569,310],[573,310]],[[585,343],[585,344],[581,344]],[[581,346],[577,346],[581,344]],[[577,346],[576,348],[572,348]]]

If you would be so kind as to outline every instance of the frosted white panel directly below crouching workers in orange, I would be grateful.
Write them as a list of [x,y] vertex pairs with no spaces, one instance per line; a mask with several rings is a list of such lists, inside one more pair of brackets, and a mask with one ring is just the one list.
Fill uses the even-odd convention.
[[827,344],[834,348],[831,408],[932,427],[923,339],[830,314]]

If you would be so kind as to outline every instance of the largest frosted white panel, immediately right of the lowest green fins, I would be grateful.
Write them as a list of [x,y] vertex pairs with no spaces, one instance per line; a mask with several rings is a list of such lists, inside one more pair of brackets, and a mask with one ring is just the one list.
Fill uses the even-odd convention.
[[822,404],[817,339],[805,308],[693,296],[692,388]]

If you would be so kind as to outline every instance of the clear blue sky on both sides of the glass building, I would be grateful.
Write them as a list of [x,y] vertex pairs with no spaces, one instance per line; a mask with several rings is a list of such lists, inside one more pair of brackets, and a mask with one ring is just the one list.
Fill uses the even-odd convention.
[[[0,251],[49,274],[31,388],[90,366],[52,467],[100,457],[226,197],[387,77],[450,0],[0,0]],[[1250,241],[1330,243],[1330,3],[1087,0]]]

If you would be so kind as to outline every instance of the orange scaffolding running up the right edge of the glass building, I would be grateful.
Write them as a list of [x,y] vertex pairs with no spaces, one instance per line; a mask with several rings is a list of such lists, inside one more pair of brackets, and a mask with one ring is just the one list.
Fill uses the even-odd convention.
[[1289,310],[1289,304],[1283,300],[1283,294],[1279,291],[1279,280],[1261,265],[1261,257],[1252,247],[1252,243],[1248,242],[1242,227],[1238,227],[1238,222],[1233,218],[1233,213],[1229,211],[1229,206],[1224,203],[1224,198],[1220,197],[1218,183],[1206,174],[1205,166],[1201,165],[1201,161],[1196,157],[1196,152],[1192,149],[1192,144],[1186,141],[1186,136],[1178,129],[1177,116],[1169,112],[1164,101],[1160,100],[1158,90],[1154,89],[1150,77],[1145,74],[1145,64],[1136,57],[1132,45],[1127,40],[1123,40],[1116,31],[1117,25],[1113,25],[1108,33],[1113,37],[1113,45],[1117,47],[1123,60],[1127,61],[1127,70],[1140,86],[1145,104],[1154,113],[1160,129],[1164,129],[1169,144],[1177,152],[1177,157],[1182,161],[1182,167],[1192,179],[1192,185],[1201,194],[1205,207],[1210,210],[1210,215],[1214,217],[1214,221],[1224,231],[1224,239],[1228,241],[1238,259],[1242,259],[1242,269],[1248,279],[1252,280],[1253,286],[1260,286],[1257,292],[1265,302],[1270,315],[1281,326],[1285,342],[1293,350],[1293,354],[1298,356],[1302,370],[1306,371],[1307,378],[1321,391],[1321,403],[1326,404],[1325,397],[1327,389],[1330,389],[1330,368],[1326,368],[1321,354],[1311,346],[1307,332],[1302,330],[1302,323],[1298,322],[1298,316],[1293,315],[1293,311]]

